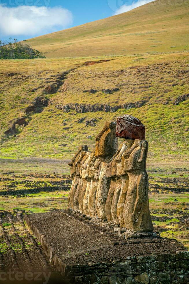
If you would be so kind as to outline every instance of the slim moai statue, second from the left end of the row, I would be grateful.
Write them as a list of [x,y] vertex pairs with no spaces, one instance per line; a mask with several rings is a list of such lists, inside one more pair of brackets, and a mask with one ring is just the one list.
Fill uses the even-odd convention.
[[87,151],[81,151],[80,153],[80,156],[79,156],[79,159],[76,163],[76,175],[78,176],[79,178],[79,182],[78,182],[78,185],[77,185],[77,189],[75,191],[75,195],[74,195],[74,209],[76,210],[80,210],[79,209],[79,194],[83,188],[83,179],[81,177],[81,165],[83,165],[83,163],[86,161],[86,159],[88,158],[88,156],[86,155],[88,152]]

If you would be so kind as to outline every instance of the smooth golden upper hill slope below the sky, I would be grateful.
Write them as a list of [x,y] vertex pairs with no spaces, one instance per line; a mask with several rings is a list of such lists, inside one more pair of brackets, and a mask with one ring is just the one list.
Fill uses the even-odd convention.
[[129,12],[27,40],[46,57],[189,50],[189,0],[157,0]]

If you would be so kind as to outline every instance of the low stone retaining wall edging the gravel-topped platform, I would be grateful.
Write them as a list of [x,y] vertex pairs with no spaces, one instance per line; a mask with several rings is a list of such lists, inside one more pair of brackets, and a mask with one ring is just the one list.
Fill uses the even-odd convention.
[[177,251],[176,254],[152,253],[151,255],[127,256],[119,261],[66,265],[27,215],[24,216],[24,220],[40,241],[49,261],[62,274],[64,283],[189,283],[188,251]]

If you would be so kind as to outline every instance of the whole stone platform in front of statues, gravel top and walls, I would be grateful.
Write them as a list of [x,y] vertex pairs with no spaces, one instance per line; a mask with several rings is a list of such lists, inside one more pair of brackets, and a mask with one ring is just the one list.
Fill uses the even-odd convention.
[[[79,213],[78,213],[79,214]],[[189,252],[174,239],[124,239],[73,210],[25,215],[63,283],[189,283]]]

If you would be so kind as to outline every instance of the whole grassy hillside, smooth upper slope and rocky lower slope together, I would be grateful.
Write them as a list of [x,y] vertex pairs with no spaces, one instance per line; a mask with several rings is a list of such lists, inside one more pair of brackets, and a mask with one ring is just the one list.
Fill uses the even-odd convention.
[[91,150],[104,122],[127,113],[146,126],[149,168],[187,171],[187,1],[28,41],[54,58],[1,60],[1,169],[68,172],[78,145]]

